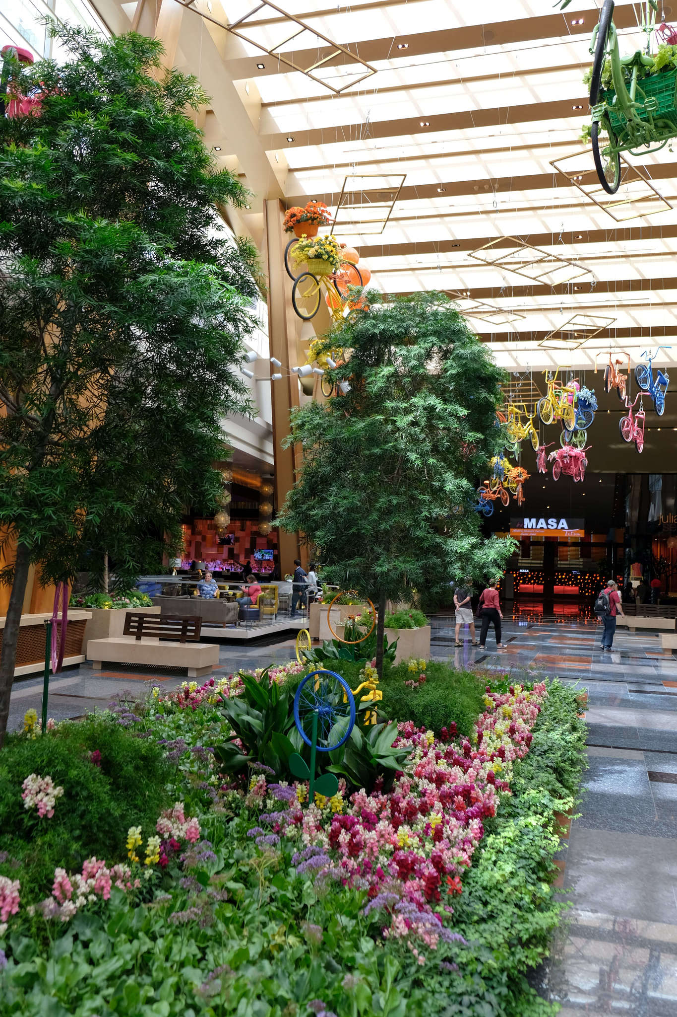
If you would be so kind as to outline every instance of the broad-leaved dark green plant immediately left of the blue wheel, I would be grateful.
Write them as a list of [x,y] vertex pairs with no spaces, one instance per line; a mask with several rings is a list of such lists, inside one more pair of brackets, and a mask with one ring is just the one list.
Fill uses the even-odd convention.
[[[222,698],[221,710],[233,734],[215,746],[216,758],[226,773],[242,773],[249,766],[263,763],[282,776],[289,772],[289,756],[300,747],[301,740],[294,727],[291,686],[271,682],[268,668],[258,680],[251,674],[243,674],[242,679],[241,696]],[[235,738],[246,752],[233,743]]]

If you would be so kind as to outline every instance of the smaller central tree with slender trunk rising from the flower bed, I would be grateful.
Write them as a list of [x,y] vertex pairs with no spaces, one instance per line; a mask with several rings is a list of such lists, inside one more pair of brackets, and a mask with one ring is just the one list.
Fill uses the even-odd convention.
[[278,522],[317,545],[328,579],[378,604],[381,673],[388,600],[495,578],[513,550],[472,507],[500,445],[503,373],[438,293],[369,292],[323,351],[337,347],[347,362],[328,374],[349,391],[292,413],[303,458]]

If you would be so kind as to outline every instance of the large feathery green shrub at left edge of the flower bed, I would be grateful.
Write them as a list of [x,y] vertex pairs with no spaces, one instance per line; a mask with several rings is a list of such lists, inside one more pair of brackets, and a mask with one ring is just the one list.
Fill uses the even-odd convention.
[[[93,854],[125,858],[128,829],[152,830],[166,804],[168,773],[152,740],[96,716],[8,737],[0,753],[0,875],[15,878],[18,860],[22,896],[30,899],[45,895],[57,866],[75,870]],[[24,807],[31,774],[63,788],[51,817]]]

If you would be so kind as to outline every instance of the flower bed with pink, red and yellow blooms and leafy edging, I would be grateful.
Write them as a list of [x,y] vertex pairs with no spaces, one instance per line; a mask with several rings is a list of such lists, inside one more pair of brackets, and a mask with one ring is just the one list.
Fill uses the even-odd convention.
[[[299,670],[276,669],[273,685]],[[570,809],[581,770],[574,694],[489,686],[469,737],[451,721],[437,737],[402,721],[393,749],[406,762],[390,790],[383,777],[369,793],[342,777],[309,806],[307,784],[265,765],[219,776],[220,698],[242,692],[232,675],[155,690],[98,721],[161,744],[174,804],[129,828],[126,855],[58,866],[35,903],[0,855],[0,1011],[38,1015],[50,997],[50,1012],[78,1017],[549,1013],[523,972],[561,909],[547,882],[554,813]],[[36,769],[31,800],[46,776]],[[51,777],[54,818],[33,822],[69,806],[70,785]]]

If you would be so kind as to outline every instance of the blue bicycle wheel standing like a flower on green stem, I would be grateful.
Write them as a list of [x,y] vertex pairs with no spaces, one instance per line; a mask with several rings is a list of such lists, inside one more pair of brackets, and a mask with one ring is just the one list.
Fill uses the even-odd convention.
[[317,717],[317,750],[329,753],[350,737],[355,723],[355,700],[349,685],[334,671],[313,671],[294,696],[294,721],[307,745],[313,745]]

